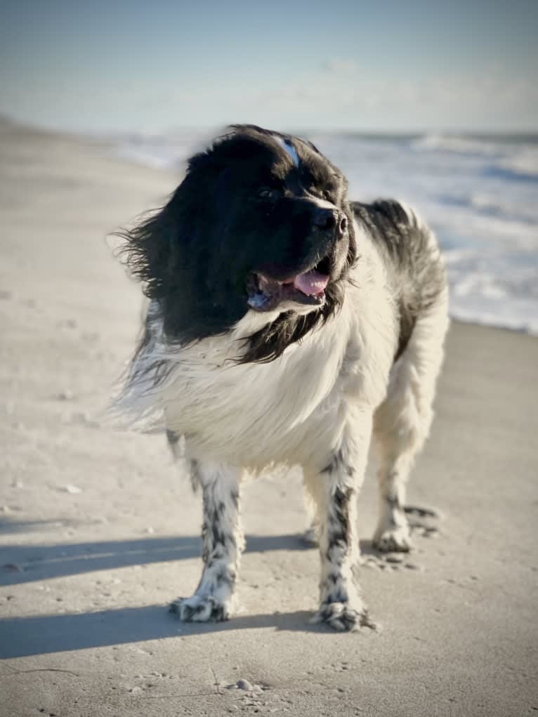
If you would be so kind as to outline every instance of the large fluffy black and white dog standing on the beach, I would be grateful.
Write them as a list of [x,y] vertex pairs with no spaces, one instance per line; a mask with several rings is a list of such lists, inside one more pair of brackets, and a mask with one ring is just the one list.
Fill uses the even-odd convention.
[[119,399],[184,437],[203,491],[203,573],[182,620],[230,616],[244,473],[301,465],[316,506],[318,622],[368,625],[357,491],[379,449],[374,544],[408,551],[405,483],[432,420],[448,326],[430,229],[396,201],[350,202],[312,143],[235,125],[189,161],[163,209],[123,234],[150,299]]

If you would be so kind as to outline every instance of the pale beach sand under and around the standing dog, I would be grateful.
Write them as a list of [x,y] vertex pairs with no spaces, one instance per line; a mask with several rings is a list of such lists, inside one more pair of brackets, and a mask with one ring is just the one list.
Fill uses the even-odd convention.
[[[177,177],[0,125],[0,714],[520,716],[538,711],[538,341],[454,324],[403,562],[369,549],[382,630],[308,624],[318,558],[298,475],[245,487],[242,612],[166,612],[199,577],[199,497],[161,435],[103,420],[140,293],[105,236]],[[237,683],[240,687],[237,687]]]

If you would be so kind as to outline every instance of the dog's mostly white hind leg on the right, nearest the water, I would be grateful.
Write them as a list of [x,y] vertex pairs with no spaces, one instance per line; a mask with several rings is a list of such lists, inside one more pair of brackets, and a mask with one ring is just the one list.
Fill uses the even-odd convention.
[[446,304],[443,292],[434,307],[418,318],[404,353],[392,367],[387,397],[374,416],[380,505],[373,543],[384,552],[405,552],[411,547],[405,486],[433,419],[435,383],[448,327]]

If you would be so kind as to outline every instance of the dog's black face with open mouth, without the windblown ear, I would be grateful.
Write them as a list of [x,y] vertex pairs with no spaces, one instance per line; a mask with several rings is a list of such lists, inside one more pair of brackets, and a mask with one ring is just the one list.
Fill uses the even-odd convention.
[[238,133],[225,150],[206,235],[235,265],[245,310],[318,309],[349,252],[344,177],[305,142],[272,133]]

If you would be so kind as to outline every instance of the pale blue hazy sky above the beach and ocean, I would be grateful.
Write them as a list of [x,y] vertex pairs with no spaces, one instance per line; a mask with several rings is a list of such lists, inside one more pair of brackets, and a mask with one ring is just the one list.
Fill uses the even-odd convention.
[[0,0],[0,114],[88,133],[538,131],[538,0]]

